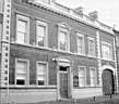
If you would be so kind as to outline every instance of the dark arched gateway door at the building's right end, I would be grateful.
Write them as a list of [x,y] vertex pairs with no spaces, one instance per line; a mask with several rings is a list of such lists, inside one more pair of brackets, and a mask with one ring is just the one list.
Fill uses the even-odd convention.
[[104,69],[102,74],[103,78],[103,94],[109,95],[115,92],[114,72],[110,69]]

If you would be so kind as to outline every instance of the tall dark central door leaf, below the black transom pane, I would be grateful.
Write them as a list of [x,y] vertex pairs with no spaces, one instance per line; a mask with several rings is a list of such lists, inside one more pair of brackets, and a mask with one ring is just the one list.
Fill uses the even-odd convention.
[[60,73],[60,96],[68,99],[68,73]]

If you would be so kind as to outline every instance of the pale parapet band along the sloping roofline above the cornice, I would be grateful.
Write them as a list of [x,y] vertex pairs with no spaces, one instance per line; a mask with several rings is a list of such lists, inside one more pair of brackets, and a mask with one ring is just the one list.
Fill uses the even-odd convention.
[[[109,32],[110,35],[114,35],[114,31],[112,31],[111,27],[109,27],[110,29],[107,30],[106,28],[103,27],[104,25],[102,26],[103,23],[100,23],[100,22],[98,22],[98,21],[95,21],[95,22],[91,22],[91,21],[90,21],[90,22],[88,22],[88,21],[86,20],[86,16],[87,16],[87,15],[84,15],[84,17],[82,18],[82,17],[80,17],[80,16],[78,16],[78,15],[74,15],[74,14],[73,14],[73,11],[72,11],[71,9],[70,9],[70,13],[68,13],[68,12],[64,12],[64,11],[61,11],[61,10],[55,8],[53,4],[50,5],[50,4],[46,4],[46,3],[43,3],[43,2],[36,3],[36,2],[33,2],[33,1],[29,1],[29,2],[31,2],[31,3],[35,3],[36,5],[41,5],[41,6],[46,8],[46,9],[48,9],[48,10],[55,11],[55,12],[57,12],[57,13],[67,15],[68,17],[74,18],[74,20],[76,20],[76,21],[79,21],[79,22],[81,22],[81,23],[84,23],[85,25],[90,25],[90,26],[92,26],[92,27],[98,28],[99,30],[103,30],[103,31],[105,31],[105,32]],[[107,26],[107,25],[106,25],[106,26]]]

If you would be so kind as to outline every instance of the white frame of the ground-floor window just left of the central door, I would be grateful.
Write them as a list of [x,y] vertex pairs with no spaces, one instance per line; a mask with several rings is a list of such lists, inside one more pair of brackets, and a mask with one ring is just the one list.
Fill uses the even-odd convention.
[[[45,64],[46,65],[46,69],[45,69],[45,84],[44,86],[38,86],[38,82],[37,82],[37,67],[38,67],[38,64]],[[48,63],[47,62],[36,61],[36,86],[39,87],[39,88],[48,86]]]

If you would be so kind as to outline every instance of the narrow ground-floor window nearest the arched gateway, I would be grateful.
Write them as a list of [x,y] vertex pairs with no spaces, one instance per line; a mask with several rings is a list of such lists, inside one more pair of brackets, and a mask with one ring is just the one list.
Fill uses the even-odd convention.
[[91,67],[90,68],[90,78],[91,78],[91,87],[96,86],[96,69]]

